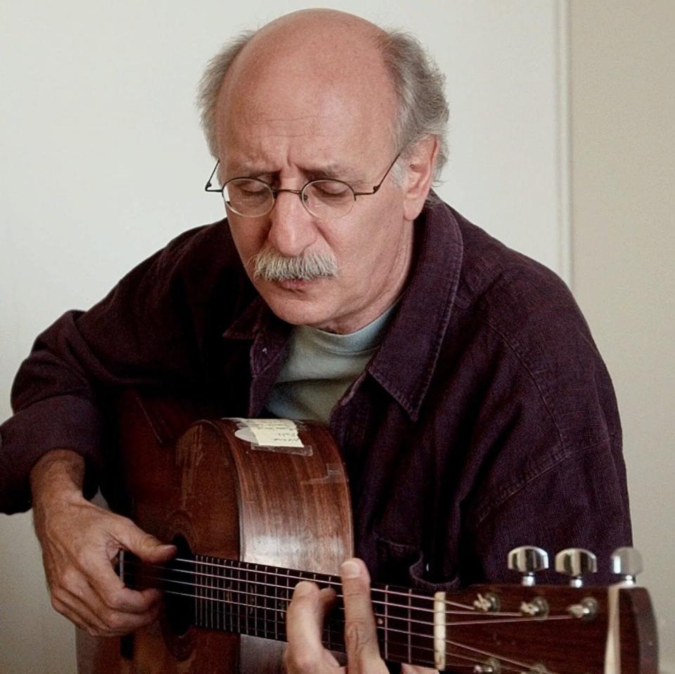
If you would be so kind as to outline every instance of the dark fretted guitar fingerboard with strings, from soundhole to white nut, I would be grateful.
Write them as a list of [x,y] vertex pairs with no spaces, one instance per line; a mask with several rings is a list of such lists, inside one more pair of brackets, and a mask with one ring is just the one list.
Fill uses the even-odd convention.
[[[340,578],[204,555],[181,555],[162,567],[139,565],[126,553],[120,575],[130,587],[158,587],[167,613],[191,616],[198,628],[286,641],[285,613],[300,581],[333,588],[335,607],[323,627],[326,648],[345,652]],[[390,661],[434,666],[434,598],[373,583],[371,600],[380,651]]]

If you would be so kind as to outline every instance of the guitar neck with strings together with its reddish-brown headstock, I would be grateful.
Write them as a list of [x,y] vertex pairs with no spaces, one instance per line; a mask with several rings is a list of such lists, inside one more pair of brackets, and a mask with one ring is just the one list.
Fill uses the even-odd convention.
[[[286,640],[295,585],[313,581],[336,593],[323,643],[345,651],[338,576],[191,554],[165,566],[139,564],[127,554],[120,576],[129,587],[163,590],[176,633],[194,626],[277,641]],[[657,672],[653,614],[643,588],[474,585],[430,595],[373,583],[371,600],[385,660],[454,672]]]

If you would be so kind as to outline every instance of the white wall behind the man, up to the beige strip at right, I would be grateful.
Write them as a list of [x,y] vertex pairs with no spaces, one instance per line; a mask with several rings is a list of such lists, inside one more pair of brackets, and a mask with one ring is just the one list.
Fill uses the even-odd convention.
[[[0,6],[0,417],[37,332],[176,233],[221,217],[218,198],[201,191],[212,160],[193,97],[206,60],[238,30],[317,4]],[[440,193],[566,276],[558,4],[378,0],[364,15],[418,34],[447,74],[451,161]],[[364,13],[359,0],[330,5]],[[0,577],[0,671],[72,671],[72,630],[49,608],[26,515],[0,517]]]

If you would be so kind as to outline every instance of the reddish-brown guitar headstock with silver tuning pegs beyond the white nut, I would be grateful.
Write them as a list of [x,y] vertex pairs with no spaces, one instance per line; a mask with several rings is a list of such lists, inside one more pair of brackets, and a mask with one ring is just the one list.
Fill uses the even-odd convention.
[[[475,674],[657,674],[658,647],[648,592],[636,585],[638,553],[621,548],[612,555],[617,583],[586,585],[595,570],[588,550],[559,552],[555,569],[570,584],[537,585],[536,571],[548,566],[544,550],[522,547],[509,554],[521,585],[475,585],[435,597],[444,609],[444,627],[435,646],[445,643],[449,672]],[[443,621],[435,616],[435,626]]]

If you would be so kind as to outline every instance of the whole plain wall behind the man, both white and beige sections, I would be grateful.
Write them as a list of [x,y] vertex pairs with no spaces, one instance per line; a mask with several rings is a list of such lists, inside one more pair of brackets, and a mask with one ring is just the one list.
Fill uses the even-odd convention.
[[[312,4],[0,6],[0,418],[39,330],[221,216],[200,193],[200,70],[234,32]],[[617,387],[642,580],[675,674],[675,3],[383,0],[365,15],[418,34],[448,76],[442,196],[558,271],[586,313]],[[0,672],[74,671],[29,515],[0,516],[0,574]]]

